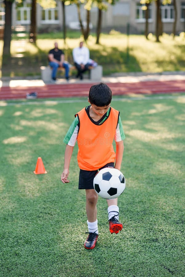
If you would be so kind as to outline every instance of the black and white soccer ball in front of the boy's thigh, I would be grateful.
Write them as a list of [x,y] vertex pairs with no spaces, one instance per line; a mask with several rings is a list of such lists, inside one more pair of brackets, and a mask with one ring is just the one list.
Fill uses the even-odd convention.
[[99,196],[105,199],[113,199],[123,193],[125,177],[118,169],[105,167],[95,175],[93,185]]

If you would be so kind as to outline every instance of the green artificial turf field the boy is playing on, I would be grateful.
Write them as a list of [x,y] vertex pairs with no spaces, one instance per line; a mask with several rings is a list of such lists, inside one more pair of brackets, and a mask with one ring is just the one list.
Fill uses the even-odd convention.
[[[126,135],[123,231],[110,234],[107,203],[99,198],[93,250],[83,247],[85,191],[78,191],[77,147],[70,183],[60,181],[63,136],[88,105],[85,98],[68,100],[0,102],[0,276],[183,277],[185,95],[113,98]],[[39,156],[47,174],[33,173]]]

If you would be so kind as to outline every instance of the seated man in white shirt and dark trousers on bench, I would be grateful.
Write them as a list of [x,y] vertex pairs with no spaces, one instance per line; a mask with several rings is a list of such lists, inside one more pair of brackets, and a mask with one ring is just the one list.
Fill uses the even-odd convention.
[[73,60],[78,74],[76,78],[80,77],[80,80],[83,79],[82,73],[88,70],[89,68],[89,49],[83,46],[83,42],[80,42],[79,47],[73,49]]

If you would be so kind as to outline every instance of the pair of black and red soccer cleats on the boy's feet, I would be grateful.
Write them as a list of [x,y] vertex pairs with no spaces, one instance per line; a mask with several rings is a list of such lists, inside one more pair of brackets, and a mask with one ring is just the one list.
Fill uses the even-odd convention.
[[[111,217],[111,219],[109,219],[107,222],[109,222],[109,230],[111,234],[113,233],[118,234],[119,231],[123,229],[123,224],[120,223],[118,219],[115,218],[115,215]],[[86,249],[93,249],[96,245],[98,234],[96,234],[96,231],[94,233],[86,232],[86,234],[89,234],[89,235],[84,243],[84,247]]]

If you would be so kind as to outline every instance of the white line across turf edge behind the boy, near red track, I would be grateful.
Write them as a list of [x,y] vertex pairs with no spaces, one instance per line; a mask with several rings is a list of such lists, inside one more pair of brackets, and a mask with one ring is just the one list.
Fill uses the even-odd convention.
[[[124,97],[124,98],[112,98],[112,101],[137,101],[137,100],[165,100],[175,98],[185,98],[185,95],[163,95],[163,96],[143,96],[143,97]],[[49,105],[49,104],[61,104],[61,103],[82,103],[87,102],[82,99],[69,99],[69,100],[46,100],[46,101],[32,101],[32,102],[6,102],[0,101],[0,106],[16,106],[16,105]]]

